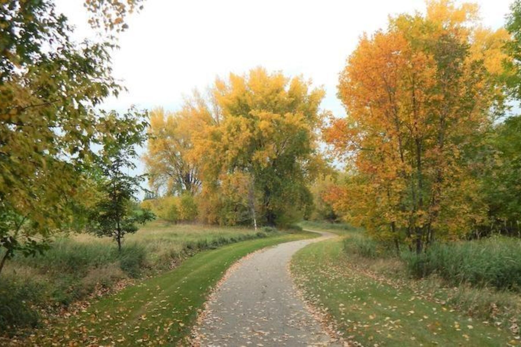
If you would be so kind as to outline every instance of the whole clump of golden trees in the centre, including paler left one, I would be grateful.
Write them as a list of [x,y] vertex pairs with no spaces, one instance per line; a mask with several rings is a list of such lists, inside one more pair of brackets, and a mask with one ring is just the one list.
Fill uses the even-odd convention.
[[[217,79],[210,101],[152,112],[145,156],[154,188],[189,191],[207,223],[286,224],[311,207],[324,161],[316,141],[322,89],[262,68]],[[196,184],[187,184],[187,178]]]

